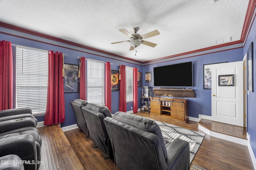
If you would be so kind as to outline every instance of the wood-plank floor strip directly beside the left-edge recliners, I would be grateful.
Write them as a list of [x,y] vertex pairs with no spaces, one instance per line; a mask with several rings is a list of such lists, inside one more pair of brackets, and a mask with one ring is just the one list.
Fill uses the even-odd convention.
[[60,125],[38,127],[42,138],[39,170],[83,170]]

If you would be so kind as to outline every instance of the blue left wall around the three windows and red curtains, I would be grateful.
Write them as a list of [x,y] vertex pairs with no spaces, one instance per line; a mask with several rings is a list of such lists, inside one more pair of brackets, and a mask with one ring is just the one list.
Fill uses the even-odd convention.
[[[12,34],[26,37],[26,39],[0,33],[0,37],[1,37],[0,41],[6,40],[6,41],[10,41],[12,44],[15,44],[15,45],[22,45],[22,46],[26,46],[26,47],[32,47],[32,48],[37,48],[37,49],[42,49],[42,50],[47,50],[47,51],[52,50],[52,51],[59,51],[59,52],[65,53],[68,56],[64,57],[64,63],[68,63],[68,64],[77,64],[78,65],[79,59],[77,59],[77,57],[83,56],[83,57],[86,57],[87,59],[94,59],[94,60],[98,60],[98,61],[113,63],[111,65],[112,70],[119,70],[119,65],[123,64],[126,66],[137,67],[138,70],[140,72],[142,72],[142,65],[139,65],[139,64],[128,63],[128,62],[120,61],[120,60],[116,60],[116,59],[110,59],[109,57],[102,57],[102,56],[104,56],[103,54],[102,55],[93,55],[90,53],[85,53],[85,52],[87,52],[86,49],[82,49],[82,50],[80,49],[79,51],[74,50],[74,47],[72,47],[71,45],[66,45],[66,46],[68,46],[67,48],[60,47],[60,45],[62,45],[62,44],[58,43],[58,42],[51,42],[51,44],[55,43],[56,45],[38,42],[38,41],[44,42],[46,40],[43,38],[40,38],[40,37],[24,35],[23,33],[19,33],[19,32],[17,33],[16,31],[14,31]],[[29,39],[27,39],[27,38],[29,38]],[[30,39],[35,39],[35,38],[37,39],[37,41],[30,40]],[[85,52],[81,52],[81,51],[85,51]],[[141,88],[138,88],[138,99],[141,96],[140,89]],[[64,93],[64,98],[65,98],[65,121],[63,123],[61,123],[61,127],[76,124],[76,117],[74,115],[72,107],[70,106],[70,102],[72,102],[76,98],[80,98],[79,92]],[[127,103],[127,111],[132,110],[131,109],[132,106],[133,106],[133,102],[128,102]],[[140,106],[138,106],[138,108],[140,108]],[[112,113],[116,113],[116,111],[119,111],[119,91],[112,92],[112,110],[111,111],[112,111]],[[38,119],[38,121],[44,121],[44,116],[38,116],[36,118]]]

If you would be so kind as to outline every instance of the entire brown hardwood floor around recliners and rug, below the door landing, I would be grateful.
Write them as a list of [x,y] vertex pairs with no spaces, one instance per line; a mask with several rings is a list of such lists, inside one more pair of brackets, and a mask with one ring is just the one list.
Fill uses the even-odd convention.
[[[137,115],[164,121],[176,126],[194,131],[198,130],[198,122],[182,123],[170,121],[168,116],[150,115],[138,112]],[[75,170],[118,170],[112,160],[104,160],[104,154],[94,149],[94,143],[86,138],[78,128],[61,131],[58,125],[38,128],[42,137],[42,161],[45,169],[75,169]],[[203,133],[203,132],[202,132]],[[253,170],[248,147],[205,135],[191,165],[195,163],[207,170]]]

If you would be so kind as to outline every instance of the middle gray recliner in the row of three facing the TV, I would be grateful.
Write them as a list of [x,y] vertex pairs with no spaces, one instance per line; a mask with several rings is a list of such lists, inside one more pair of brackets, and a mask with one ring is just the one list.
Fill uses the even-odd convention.
[[90,140],[96,144],[95,147],[98,147],[106,155],[104,159],[112,159],[113,150],[103,122],[105,117],[112,117],[111,112],[106,106],[94,103],[82,107],[82,112],[90,134]]

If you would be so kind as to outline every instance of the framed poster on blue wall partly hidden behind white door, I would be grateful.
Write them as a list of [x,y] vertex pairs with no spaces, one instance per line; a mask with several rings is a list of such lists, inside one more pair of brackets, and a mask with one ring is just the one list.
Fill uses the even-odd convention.
[[[227,62],[221,62],[227,63]],[[204,89],[212,89],[212,65],[219,64],[219,63],[212,63],[212,64],[204,64],[203,65],[203,75],[204,75]]]

